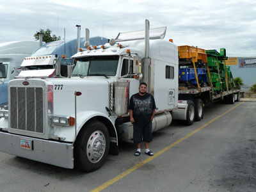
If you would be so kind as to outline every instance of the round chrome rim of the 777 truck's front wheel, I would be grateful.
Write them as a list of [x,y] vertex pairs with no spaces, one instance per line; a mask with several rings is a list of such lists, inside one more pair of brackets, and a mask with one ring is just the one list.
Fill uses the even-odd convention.
[[101,131],[94,131],[87,142],[86,154],[91,163],[97,163],[104,155],[106,139]]

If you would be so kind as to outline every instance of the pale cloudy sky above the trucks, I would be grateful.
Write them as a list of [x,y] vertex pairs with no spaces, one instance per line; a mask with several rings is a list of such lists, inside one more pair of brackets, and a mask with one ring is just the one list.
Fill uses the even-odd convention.
[[34,40],[39,29],[66,40],[76,38],[76,25],[90,36],[115,38],[119,32],[166,26],[165,39],[177,45],[227,49],[227,55],[256,56],[255,0],[0,0],[0,43]]

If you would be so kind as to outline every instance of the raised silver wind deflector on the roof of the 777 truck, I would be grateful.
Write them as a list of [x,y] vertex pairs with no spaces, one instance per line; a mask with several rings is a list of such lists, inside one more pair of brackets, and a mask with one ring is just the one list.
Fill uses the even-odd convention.
[[[166,27],[163,28],[154,28],[149,29],[149,38],[150,39],[163,39],[166,33]],[[140,40],[145,39],[145,30],[142,31],[131,31],[125,33],[119,33],[115,41],[116,42],[124,42],[129,40]]]

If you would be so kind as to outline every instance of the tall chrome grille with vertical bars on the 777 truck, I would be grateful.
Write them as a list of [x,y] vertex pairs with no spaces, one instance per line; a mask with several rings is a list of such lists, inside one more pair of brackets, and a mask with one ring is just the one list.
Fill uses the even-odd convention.
[[11,87],[12,129],[44,132],[44,97],[42,88]]

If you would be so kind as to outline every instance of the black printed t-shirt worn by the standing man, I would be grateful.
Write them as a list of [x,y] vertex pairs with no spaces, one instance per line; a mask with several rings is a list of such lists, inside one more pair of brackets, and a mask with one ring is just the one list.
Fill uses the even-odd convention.
[[147,125],[153,109],[156,109],[154,97],[149,93],[143,96],[136,93],[131,97],[129,109],[133,111],[134,124]]

